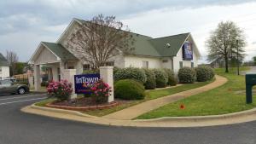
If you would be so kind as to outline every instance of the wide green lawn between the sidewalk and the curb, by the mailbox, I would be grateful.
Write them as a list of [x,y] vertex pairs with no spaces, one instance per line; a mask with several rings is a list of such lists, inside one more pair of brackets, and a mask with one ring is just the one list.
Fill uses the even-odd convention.
[[[246,95],[236,93],[237,91],[245,90],[244,76],[234,74],[236,70],[224,73],[223,69],[218,69],[217,72],[219,75],[229,79],[223,86],[144,113],[138,118],[216,115],[239,112],[256,107],[256,95],[253,96],[253,104],[246,104]],[[185,107],[184,109],[180,108],[181,104]]]

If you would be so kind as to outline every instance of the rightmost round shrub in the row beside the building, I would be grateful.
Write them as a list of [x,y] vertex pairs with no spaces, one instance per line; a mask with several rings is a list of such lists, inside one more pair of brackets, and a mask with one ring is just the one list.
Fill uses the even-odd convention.
[[206,82],[214,77],[214,71],[209,66],[195,67],[196,79],[198,82]]

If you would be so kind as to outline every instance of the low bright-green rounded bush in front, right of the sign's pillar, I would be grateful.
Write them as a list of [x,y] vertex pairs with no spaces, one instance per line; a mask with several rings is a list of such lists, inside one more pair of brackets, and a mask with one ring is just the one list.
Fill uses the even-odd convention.
[[114,85],[114,97],[124,100],[142,100],[145,97],[143,84],[133,79],[123,79]]

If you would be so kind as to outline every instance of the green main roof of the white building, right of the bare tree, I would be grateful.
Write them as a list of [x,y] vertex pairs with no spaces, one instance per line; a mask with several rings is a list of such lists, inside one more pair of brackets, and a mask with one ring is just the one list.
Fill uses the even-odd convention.
[[[74,20],[78,20],[80,23],[88,22],[86,20],[80,20],[77,18]],[[134,45],[131,46],[134,47],[134,50],[132,50],[129,54],[156,57],[176,56],[178,50],[182,48],[183,43],[189,36],[189,33],[182,33],[168,37],[152,38],[133,32],[129,33],[131,33],[135,40]],[[167,43],[170,44],[170,47],[166,46]]]

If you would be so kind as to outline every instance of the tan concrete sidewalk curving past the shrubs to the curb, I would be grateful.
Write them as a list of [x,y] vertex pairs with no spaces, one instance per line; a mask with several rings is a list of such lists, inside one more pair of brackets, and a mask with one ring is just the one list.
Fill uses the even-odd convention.
[[142,115],[145,112],[152,111],[156,108],[165,106],[166,104],[169,104],[174,101],[178,101],[178,100],[188,97],[190,95],[196,95],[201,92],[217,88],[218,86],[221,86],[227,82],[227,79],[224,77],[216,75],[215,78],[216,78],[216,80],[214,82],[212,82],[211,84],[202,86],[200,88],[190,89],[187,91],[179,92],[179,93],[173,94],[173,95],[164,96],[164,97],[154,99],[151,101],[145,101],[136,106],[128,107],[121,111],[108,114],[108,115],[104,116],[103,118],[120,119],[120,120],[129,120],[132,118],[137,118],[138,116]]

